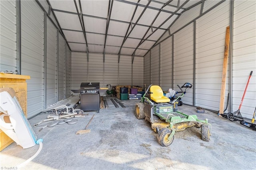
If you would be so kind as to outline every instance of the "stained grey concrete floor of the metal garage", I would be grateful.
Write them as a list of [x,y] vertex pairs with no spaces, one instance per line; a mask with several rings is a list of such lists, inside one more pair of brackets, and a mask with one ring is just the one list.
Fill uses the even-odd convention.
[[[58,170],[245,170],[256,169],[255,131],[239,123],[218,117],[206,111],[196,113],[196,108],[188,105],[179,111],[197,115],[198,119],[209,120],[212,136],[209,142],[201,139],[200,128],[190,127],[174,134],[174,141],[168,147],[157,142],[156,133],[150,123],[138,120],[134,115],[135,104],[139,100],[122,101],[126,108],[116,108],[107,98],[109,108],[100,113],[78,119],[74,125],[56,125],[38,131],[43,148],[31,162],[19,169]],[[75,134],[89,125],[90,133]],[[31,125],[46,119],[41,114],[29,120]],[[54,115],[54,114],[51,114]],[[22,149],[16,143],[0,152],[1,169],[16,168],[30,158],[39,146]]]

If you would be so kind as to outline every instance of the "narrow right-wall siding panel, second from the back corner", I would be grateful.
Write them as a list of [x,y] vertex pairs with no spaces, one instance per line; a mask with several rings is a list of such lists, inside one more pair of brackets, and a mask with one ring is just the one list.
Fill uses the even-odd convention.
[[153,85],[159,85],[160,76],[160,65],[159,65],[159,45],[156,45],[151,49],[150,57],[150,83]]

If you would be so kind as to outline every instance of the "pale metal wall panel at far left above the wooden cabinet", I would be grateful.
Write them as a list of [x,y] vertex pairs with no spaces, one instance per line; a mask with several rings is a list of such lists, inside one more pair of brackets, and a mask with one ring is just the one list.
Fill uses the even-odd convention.
[[0,71],[16,70],[16,2],[0,1]]

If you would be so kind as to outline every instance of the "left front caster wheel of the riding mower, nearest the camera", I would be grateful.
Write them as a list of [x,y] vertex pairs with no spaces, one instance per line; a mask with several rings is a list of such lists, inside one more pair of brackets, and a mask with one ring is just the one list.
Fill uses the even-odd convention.
[[169,146],[172,144],[174,140],[174,136],[170,140],[168,140],[170,134],[172,133],[172,130],[169,128],[162,128],[160,132],[157,134],[157,141],[162,146]]

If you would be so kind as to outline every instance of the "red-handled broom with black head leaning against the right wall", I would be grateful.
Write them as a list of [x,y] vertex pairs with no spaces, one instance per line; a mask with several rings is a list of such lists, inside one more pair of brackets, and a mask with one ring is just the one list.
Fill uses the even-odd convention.
[[243,121],[243,120],[244,120],[244,118],[242,117],[242,115],[241,115],[241,113],[240,113],[240,109],[241,109],[241,107],[242,107],[242,103],[243,103],[243,101],[244,101],[244,96],[245,96],[247,87],[248,87],[248,85],[249,85],[249,81],[250,81],[251,76],[252,76],[252,71],[251,71],[250,76],[249,76],[249,79],[248,79],[248,81],[247,81],[247,84],[246,84],[246,87],[245,87],[245,90],[244,90],[244,95],[243,95],[243,97],[242,97],[242,100],[241,100],[241,103],[240,103],[240,105],[239,105],[238,110],[235,111],[234,113],[228,113],[227,115],[221,114],[222,117],[227,118],[228,120],[230,120],[230,121],[232,121],[232,122],[234,122],[234,121]]

